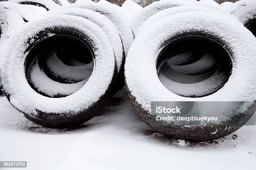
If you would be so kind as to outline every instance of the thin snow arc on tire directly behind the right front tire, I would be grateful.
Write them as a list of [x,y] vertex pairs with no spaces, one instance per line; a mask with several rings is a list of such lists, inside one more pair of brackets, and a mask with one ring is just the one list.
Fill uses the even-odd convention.
[[143,24],[139,27],[137,34],[139,34],[141,31],[145,30],[148,26],[152,25],[157,20],[160,20],[161,18],[167,17],[169,15],[174,15],[177,13],[183,13],[183,12],[189,12],[189,11],[215,11],[223,13],[224,15],[229,15],[231,18],[233,17],[228,12],[220,10],[216,7],[209,7],[209,5],[182,5],[172,8],[167,8],[165,10],[161,10],[158,13],[152,15],[149,17]]

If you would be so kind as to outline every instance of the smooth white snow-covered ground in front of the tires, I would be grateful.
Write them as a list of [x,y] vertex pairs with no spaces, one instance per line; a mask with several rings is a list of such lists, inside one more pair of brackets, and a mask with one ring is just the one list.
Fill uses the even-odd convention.
[[204,143],[165,138],[138,118],[125,90],[73,129],[38,126],[5,97],[0,116],[0,161],[27,161],[28,170],[256,169],[256,126]]

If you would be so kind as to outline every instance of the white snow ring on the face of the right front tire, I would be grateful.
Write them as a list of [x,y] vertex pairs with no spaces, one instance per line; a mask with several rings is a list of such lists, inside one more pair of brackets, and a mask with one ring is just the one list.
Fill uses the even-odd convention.
[[[233,54],[233,70],[228,82],[217,92],[205,97],[189,98],[176,95],[164,87],[157,75],[156,58],[162,49],[162,43],[174,35],[190,30],[220,37]],[[255,46],[256,39],[253,34],[238,20],[228,16],[200,11],[170,15],[147,27],[135,38],[125,63],[127,87],[136,97],[136,102],[149,113],[151,101],[253,102],[256,100]],[[138,60],[140,62],[136,62]],[[224,116],[221,110],[209,111],[208,115],[211,114]]]

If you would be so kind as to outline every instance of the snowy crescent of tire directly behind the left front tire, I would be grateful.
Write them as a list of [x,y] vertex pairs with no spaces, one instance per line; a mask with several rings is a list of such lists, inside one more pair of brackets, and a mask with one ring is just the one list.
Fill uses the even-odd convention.
[[92,23],[98,25],[107,35],[110,43],[115,51],[115,57],[117,60],[118,80],[116,82],[117,90],[120,90],[124,85],[124,63],[125,63],[125,50],[120,34],[115,25],[108,20],[104,15],[97,13],[93,10],[84,8],[61,8],[60,10],[54,10],[51,14],[59,15],[74,15],[90,20]]

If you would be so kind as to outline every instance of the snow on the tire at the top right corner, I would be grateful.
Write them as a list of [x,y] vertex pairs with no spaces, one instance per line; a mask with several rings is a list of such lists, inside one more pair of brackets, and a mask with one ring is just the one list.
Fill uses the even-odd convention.
[[240,10],[237,10],[233,15],[246,25],[250,20],[256,19],[256,2],[242,7]]

